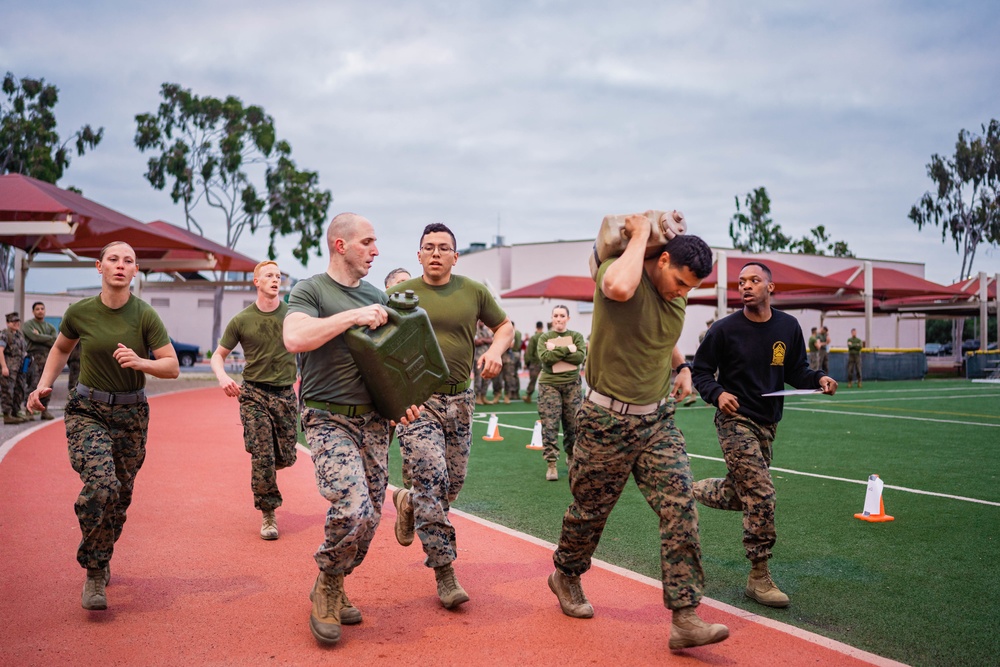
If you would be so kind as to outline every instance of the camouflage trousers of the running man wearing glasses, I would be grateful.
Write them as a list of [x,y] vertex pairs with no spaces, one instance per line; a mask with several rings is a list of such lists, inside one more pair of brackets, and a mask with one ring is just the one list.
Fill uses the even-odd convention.
[[458,556],[448,510],[469,467],[474,400],[472,390],[433,394],[420,418],[399,431],[404,474],[413,485],[414,527],[427,567],[447,565]]

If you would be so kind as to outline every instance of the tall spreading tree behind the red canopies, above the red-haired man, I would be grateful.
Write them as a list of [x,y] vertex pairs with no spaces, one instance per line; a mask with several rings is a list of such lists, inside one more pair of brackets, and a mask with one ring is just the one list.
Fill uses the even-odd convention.
[[[268,256],[275,239],[298,235],[292,254],[305,265],[321,254],[323,223],[333,197],[319,188],[316,172],[302,171],[292,149],[277,138],[274,119],[236,97],[198,97],[174,83],[160,88],[155,114],[135,117],[135,145],[154,153],[146,179],[184,207],[187,228],[204,235],[209,219],[225,223],[225,245],[270,223]],[[216,291],[212,346],[221,332],[222,291]]]

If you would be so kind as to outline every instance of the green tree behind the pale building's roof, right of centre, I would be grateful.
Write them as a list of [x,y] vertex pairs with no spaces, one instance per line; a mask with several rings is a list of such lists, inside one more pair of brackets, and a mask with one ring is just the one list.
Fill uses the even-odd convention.
[[833,241],[826,227],[819,225],[809,230],[807,236],[794,240],[781,231],[781,225],[771,219],[771,198],[767,189],[760,187],[747,193],[740,208],[736,197],[736,213],[729,220],[729,238],[733,247],[744,252],[772,252],[790,250],[808,255],[831,254],[834,257],[854,257],[844,241]]

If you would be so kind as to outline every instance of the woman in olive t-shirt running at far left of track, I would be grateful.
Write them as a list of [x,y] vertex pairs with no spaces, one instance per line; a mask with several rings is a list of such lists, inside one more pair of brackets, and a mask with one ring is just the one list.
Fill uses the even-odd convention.
[[106,245],[97,271],[101,293],[66,309],[38,387],[28,397],[28,408],[41,410],[69,353],[83,346],[80,384],[66,401],[65,421],[70,463],[83,482],[76,499],[83,534],[76,560],[87,570],[82,604],[89,610],[107,609],[111,556],[146,457],[146,374],[176,378],[180,373],[160,316],[129,292],[139,272],[132,247]]

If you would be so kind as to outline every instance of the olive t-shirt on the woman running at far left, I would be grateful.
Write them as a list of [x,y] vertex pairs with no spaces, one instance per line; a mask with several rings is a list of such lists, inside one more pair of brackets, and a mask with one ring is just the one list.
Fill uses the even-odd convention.
[[119,343],[140,357],[170,344],[160,316],[134,295],[121,308],[108,308],[100,295],[81,299],[66,309],[59,332],[79,341],[80,384],[101,391],[129,392],[146,386],[145,373],[122,368],[112,356]]

